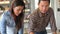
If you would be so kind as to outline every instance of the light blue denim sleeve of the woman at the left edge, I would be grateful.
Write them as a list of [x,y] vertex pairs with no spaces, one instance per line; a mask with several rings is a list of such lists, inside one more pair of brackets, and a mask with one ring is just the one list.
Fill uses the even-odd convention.
[[4,14],[2,14],[1,16],[0,29],[1,29],[1,34],[6,34],[6,19]]

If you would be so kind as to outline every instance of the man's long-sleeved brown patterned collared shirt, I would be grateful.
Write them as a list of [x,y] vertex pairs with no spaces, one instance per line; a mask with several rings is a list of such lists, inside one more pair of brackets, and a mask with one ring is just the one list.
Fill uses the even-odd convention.
[[42,15],[39,9],[36,9],[29,17],[29,31],[44,31],[48,23],[51,25],[51,30],[56,32],[57,28],[55,24],[53,9],[49,8],[44,15]]

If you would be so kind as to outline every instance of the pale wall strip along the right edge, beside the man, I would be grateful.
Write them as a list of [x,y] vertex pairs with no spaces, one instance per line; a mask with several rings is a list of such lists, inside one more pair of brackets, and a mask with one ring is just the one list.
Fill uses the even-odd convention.
[[59,0],[55,0],[54,2],[54,8],[55,8],[55,13],[56,13],[56,24],[57,24],[57,28],[60,29],[60,12],[57,11],[58,8],[58,1]]

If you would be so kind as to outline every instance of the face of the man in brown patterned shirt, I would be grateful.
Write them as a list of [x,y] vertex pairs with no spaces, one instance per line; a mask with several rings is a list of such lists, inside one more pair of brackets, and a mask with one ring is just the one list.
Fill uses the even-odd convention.
[[46,13],[48,11],[48,8],[49,8],[49,2],[48,1],[41,1],[38,4],[38,8],[39,8],[41,13]]

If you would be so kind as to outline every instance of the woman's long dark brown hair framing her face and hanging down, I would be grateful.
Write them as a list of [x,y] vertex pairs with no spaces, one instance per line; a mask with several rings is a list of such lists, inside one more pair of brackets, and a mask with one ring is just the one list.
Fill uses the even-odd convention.
[[[9,9],[13,15],[14,15],[13,8],[16,7],[16,6],[24,6],[24,9],[25,9],[25,3],[23,1],[21,1],[21,0],[14,0],[12,2],[12,4],[11,4],[11,8]],[[23,23],[23,19],[24,19],[24,11],[23,10],[19,14],[19,16],[16,16],[15,23],[16,23],[16,26],[18,28],[20,28],[22,26],[22,23]]]

